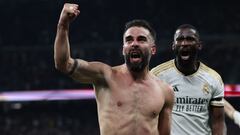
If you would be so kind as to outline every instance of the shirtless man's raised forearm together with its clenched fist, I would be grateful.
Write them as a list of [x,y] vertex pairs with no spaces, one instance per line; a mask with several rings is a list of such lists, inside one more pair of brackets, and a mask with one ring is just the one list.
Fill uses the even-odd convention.
[[55,67],[64,73],[70,73],[74,68],[74,60],[70,56],[68,33],[71,21],[73,21],[79,13],[80,11],[78,10],[77,4],[66,3],[64,4],[58,21],[54,43],[54,60]]

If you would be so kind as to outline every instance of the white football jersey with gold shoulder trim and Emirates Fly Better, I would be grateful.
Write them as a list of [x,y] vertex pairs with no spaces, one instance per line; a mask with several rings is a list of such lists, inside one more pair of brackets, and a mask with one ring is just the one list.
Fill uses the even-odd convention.
[[212,101],[224,97],[221,76],[203,63],[197,72],[185,76],[176,68],[174,60],[156,66],[151,72],[174,90],[171,134],[211,135],[208,108],[223,106],[223,102]]

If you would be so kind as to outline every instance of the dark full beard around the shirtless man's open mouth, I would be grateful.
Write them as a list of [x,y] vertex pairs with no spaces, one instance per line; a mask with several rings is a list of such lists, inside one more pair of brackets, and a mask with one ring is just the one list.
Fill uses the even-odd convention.
[[134,63],[130,62],[130,54],[125,55],[124,59],[125,59],[128,69],[130,69],[130,71],[141,72],[145,69],[145,67],[149,63],[150,55],[149,54],[141,55],[141,57],[142,57],[142,62],[134,64]]

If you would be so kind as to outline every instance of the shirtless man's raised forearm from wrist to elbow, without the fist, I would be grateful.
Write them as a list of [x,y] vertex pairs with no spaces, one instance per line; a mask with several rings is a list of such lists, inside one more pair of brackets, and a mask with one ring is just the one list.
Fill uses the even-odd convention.
[[71,60],[68,33],[69,25],[59,22],[54,43],[54,60],[55,67],[63,72],[67,72],[67,65]]

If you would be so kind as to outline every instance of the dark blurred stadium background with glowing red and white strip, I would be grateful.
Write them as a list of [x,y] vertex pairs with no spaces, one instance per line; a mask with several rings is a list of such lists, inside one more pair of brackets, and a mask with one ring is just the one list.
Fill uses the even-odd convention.
[[[74,82],[54,68],[53,43],[64,2],[0,1],[1,135],[99,134],[96,102],[88,91],[92,86]],[[240,110],[240,8],[234,1],[74,2],[80,4],[81,13],[71,25],[73,57],[121,64],[124,23],[140,18],[150,21],[158,33],[153,67],[173,58],[174,30],[190,23],[199,29],[204,43],[201,59],[222,75],[226,99]],[[83,98],[81,91],[90,98]],[[228,118],[226,123],[229,135],[240,131]]]

